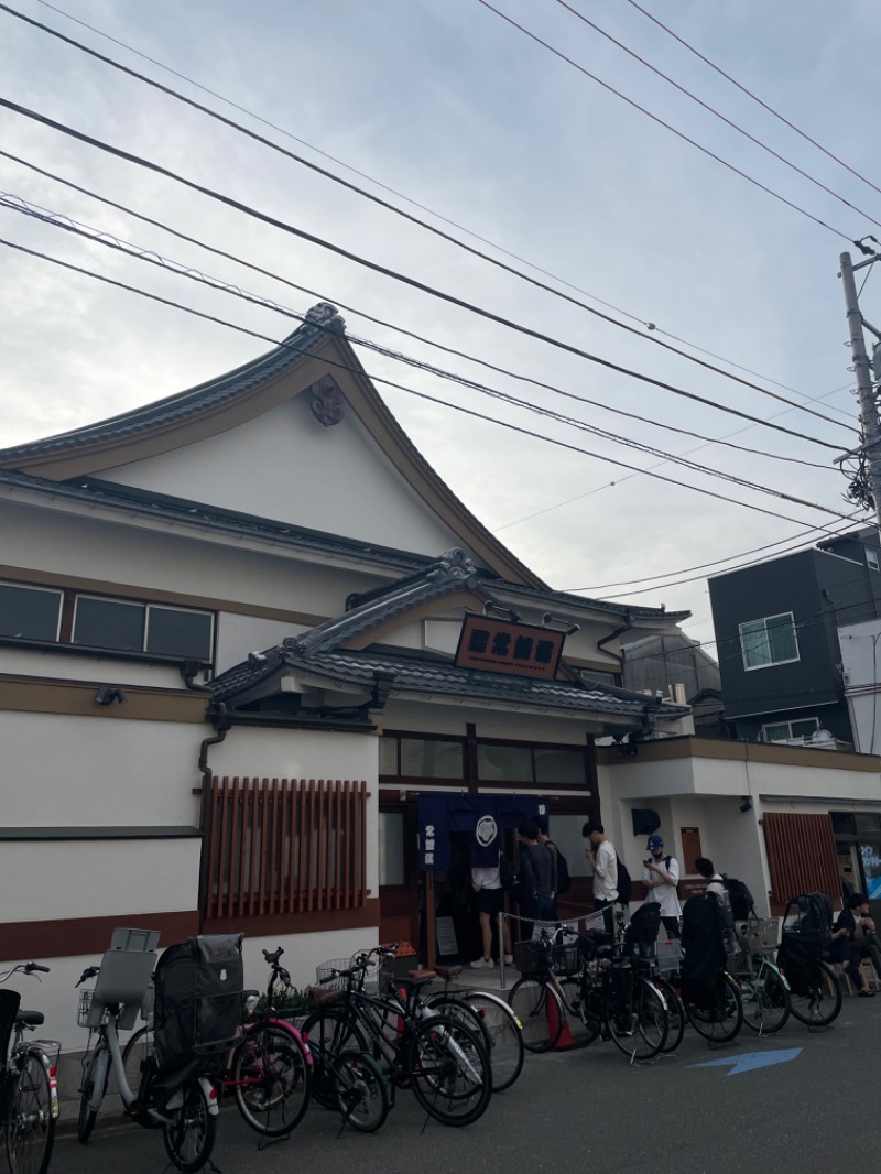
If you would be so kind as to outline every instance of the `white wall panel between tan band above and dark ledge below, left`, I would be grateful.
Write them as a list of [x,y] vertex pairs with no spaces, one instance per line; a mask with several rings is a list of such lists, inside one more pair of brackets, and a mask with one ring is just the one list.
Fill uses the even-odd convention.
[[207,727],[0,711],[7,828],[194,826]]

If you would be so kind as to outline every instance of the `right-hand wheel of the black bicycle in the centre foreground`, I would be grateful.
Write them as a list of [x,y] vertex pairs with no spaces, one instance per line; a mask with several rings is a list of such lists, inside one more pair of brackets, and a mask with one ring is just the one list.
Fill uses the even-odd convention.
[[413,1094],[442,1125],[471,1125],[486,1111],[492,1072],[480,1037],[452,1016],[432,1016],[412,1028],[406,1068]]

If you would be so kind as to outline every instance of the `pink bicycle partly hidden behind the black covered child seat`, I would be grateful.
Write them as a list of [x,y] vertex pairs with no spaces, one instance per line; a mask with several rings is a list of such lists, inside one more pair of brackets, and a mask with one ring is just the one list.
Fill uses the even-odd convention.
[[[312,1094],[312,1057],[296,1027],[278,1017],[276,989],[290,987],[290,974],[278,964],[284,950],[263,951],[270,971],[265,1011],[254,1023],[240,1026],[227,1053],[222,1075],[224,1092],[231,1092],[244,1122],[264,1138],[283,1138],[300,1125]],[[257,992],[246,992],[246,1012],[254,1011]],[[249,1008],[250,1004],[250,1008]],[[140,1079],[144,1060],[153,1055],[149,998],[142,1018],[146,1025],[128,1040],[122,1052],[126,1079]]]

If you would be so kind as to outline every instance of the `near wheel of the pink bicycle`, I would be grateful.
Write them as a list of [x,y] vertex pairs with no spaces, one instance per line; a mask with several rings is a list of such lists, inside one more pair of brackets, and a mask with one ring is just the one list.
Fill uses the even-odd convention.
[[267,1138],[295,1129],[309,1107],[312,1066],[300,1039],[277,1024],[256,1024],[233,1061],[233,1088],[246,1125]]

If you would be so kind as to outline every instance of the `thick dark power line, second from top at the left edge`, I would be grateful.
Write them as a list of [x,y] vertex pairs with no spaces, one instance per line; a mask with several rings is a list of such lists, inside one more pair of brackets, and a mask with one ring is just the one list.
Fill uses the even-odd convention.
[[[0,8],[4,6],[0,5]],[[381,265],[375,261],[369,261],[366,257],[362,257],[358,254],[352,252],[350,249],[344,249],[342,248],[342,245],[334,244],[332,242],[327,241],[323,237],[316,236],[312,232],[307,232],[304,229],[296,228],[295,225],[289,224],[285,221],[277,220],[275,216],[269,216],[267,212],[258,211],[257,209],[251,208],[249,204],[244,204],[238,200],[234,200],[231,196],[227,196],[223,193],[215,191],[214,189],[204,187],[201,183],[196,183],[193,180],[188,180],[184,176],[179,175],[176,171],[172,171],[168,168],[162,167],[160,163],[154,163],[150,160],[142,158],[141,156],[134,155],[130,151],[122,150],[120,147],[112,147],[109,143],[106,143],[100,139],[94,139],[92,135],[83,134],[83,131],[81,130],[75,130],[73,127],[68,127],[65,123],[56,122],[54,119],[49,119],[43,114],[38,114],[35,110],[29,110],[23,106],[19,106],[18,102],[9,101],[9,99],[0,97],[0,106],[5,107],[8,110],[13,110],[15,114],[22,115],[26,119],[31,119],[34,122],[39,122],[42,126],[49,127],[51,129],[56,130],[60,134],[63,134],[70,139],[75,139],[79,142],[87,143],[88,146],[94,147],[97,150],[105,151],[106,154],[113,155],[116,158],[123,158],[129,163],[135,163],[137,167],[142,167],[146,168],[147,170],[154,171],[156,175],[163,175],[167,178],[173,180],[176,183],[180,183],[193,191],[199,191],[201,195],[208,196],[210,200],[216,200],[218,203],[226,204],[229,208],[234,208],[236,211],[243,212],[244,215],[250,216],[254,220],[260,221],[261,223],[269,224],[273,228],[281,229],[283,232],[288,232],[291,236],[296,236],[302,241],[308,241],[310,244],[316,244],[320,248],[327,249],[329,252],[334,252],[336,256],[345,257],[347,261],[351,261],[355,264],[362,265],[363,268],[369,269],[371,272],[381,274],[383,277],[389,277],[392,281],[401,282],[402,284],[408,285],[411,289],[417,289],[423,294],[428,294],[431,297],[436,297],[439,301],[448,303],[449,305],[455,305],[462,310],[468,310],[471,313],[478,315],[480,318],[505,326],[507,330],[513,330],[517,333],[525,335],[529,338],[536,338],[539,342],[547,343],[547,345],[561,350],[569,355],[574,355],[579,358],[587,359],[587,362],[596,363],[599,366],[606,367],[610,371],[616,371],[619,375],[627,376],[628,378],[638,379],[639,382],[646,383],[653,387],[660,387],[661,390],[670,391],[673,394],[682,396],[686,399],[690,399],[694,403],[704,404],[705,406],[708,407],[713,407],[717,411],[727,412],[731,416],[737,416],[740,419],[751,420],[753,423],[755,423],[756,420],[756,417],[749,416],[747,412],[741,412],[734,407],[729,407],[724,404],[718,404],[714,400],[706,398],[705,396],[698,396],[695,392],[685,391],[684,389],[677,387],[673,384],[665,383],[661,379],[654,379],[652,376],[633,371],[632,369],[625,367],[619,363],[612,363],[610,359],[600,358],[598,355],[592,355],[590,351],[585,351],[580,346],[574,346],[571,343],[565,343],[559,338],[545,335],[543,331],[539,330],[533,330],[531,326],[525,326],[522,323],[512,322],[510,318],[505,318],[503,315],[495,313],[493,311],[486,310],[483,306],[478,306],[472,302],[465,301],[464,298],[456,297],[452,294],[446,294],[443,290],[439,290],[432,285],[428,285],[425,282],[421,282],[415,277],[409,277],[405,274],[398,272],[397,270],[389,269],[386,265]],[[774,399],[782,399],[784,403],[787,403],[791,406],[801,407],[801,405],[793,405],[791,400],[785,399],[785,397],[778,396],[775,392],[765,391],[764,389],[758,389],[758,387],[755,390],[764,391],[764,394],[771,396]],[[802,410],[811,411],[809,409],[802,409]],[[819,414],[819,413],[812,412],[812,414]],[[847,427],[847,425],[840,423],[839,420],[832,420],[827,417],[823,417],[823,419],[827,419],[828,423],[835,424],[839,427]],[[762,420],[760,423],[762,427],[769,427],[773,429],[774,431],[784,432],[787,436],[796,437],[800,440],[811,439],[814,444],[819,444],[822,447],[830,448],[834,452],[840,452],[840,445],[832,444],[827,440],[820,440],[815,437],[807,438],[805,437],[803,433],[795,432],[792,429],[786,429],[780,424],[771,424],[767,420]],[[855,431],[855,430],[848,429],[848,431]]]

